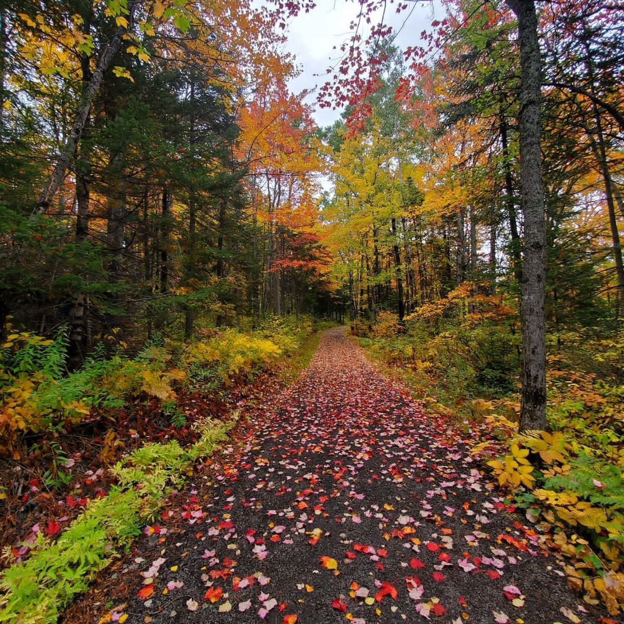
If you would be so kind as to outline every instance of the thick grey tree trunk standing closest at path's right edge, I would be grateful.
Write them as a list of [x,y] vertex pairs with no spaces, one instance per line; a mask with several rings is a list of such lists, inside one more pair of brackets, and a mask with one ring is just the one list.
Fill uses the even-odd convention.
[[546,226],[542,187],[542,59],[534,0],[506,0],[518,17],[520,44],[520,182],[524,215],[522,266],[522,408],[520,431],[546,426]]

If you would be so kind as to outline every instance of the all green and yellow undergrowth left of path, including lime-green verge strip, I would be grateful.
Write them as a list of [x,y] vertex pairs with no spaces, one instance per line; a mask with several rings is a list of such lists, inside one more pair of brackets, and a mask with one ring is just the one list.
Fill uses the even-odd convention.
[[[309,317],[265,319],[246,332],[208,329],[190,343],[156,339],[134,357],[120,349],[105,358],[102,349],[95,349],[78,371],[68,373],[64,329],[46,339],[9,327],[0,348],[0,442],[16,459],[26,451],[29,436],[40,434],[42,441],[30,450],[39,445],[40,451],[47,449],[62,461],[59,434],[89,419],[94,408],[124,407],[137,400],[159,400],[173,427],[187,425],[177,391],[226,388],[235,376],[251,379],[285,356],[286,369],[298,371],[316,348],[318,334],[306,341],[314,328]],[[298,354],[302,343],[306,348]],[[95,573],[129,547],[145,522],[157,517],[168,492],[183,484],[193,464],[227,439],[237,418],[196,420],[189,426],[198,439],[187,449],[176,440],[147,442],[110,466],[116,484],[107,495],[89,500],[57,539],[40,532],[29,544],[29,557],[5,570],[0,622],[56,622],[60,610],[85,592]],[[56,440],[50,439],[55,435]],[[117,450],[110,436],[102,459],[114,462]],[[58,474],[71,480],[60,470]],[[11,557],[10,548],[3,554]]]

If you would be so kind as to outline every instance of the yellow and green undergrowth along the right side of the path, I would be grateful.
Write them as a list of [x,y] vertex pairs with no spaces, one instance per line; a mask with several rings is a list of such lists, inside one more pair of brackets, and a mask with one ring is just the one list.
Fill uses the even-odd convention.
[[[464,283],[398,322],[354,322],[368,353],[432,411],[468,421],[473,452],[536,522],[558,535],[568,584],[584,600],[624,608],[624,329],[607,324],[548,334],[547,431],[519,434],[520,332],[509,296]],[[571,537],[570,537],[571,536]]]

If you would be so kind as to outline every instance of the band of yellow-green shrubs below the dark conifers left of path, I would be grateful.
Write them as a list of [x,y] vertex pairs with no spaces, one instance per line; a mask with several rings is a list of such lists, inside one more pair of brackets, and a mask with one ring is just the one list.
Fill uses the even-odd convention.
[[68,373],[66,329],[49,340],[16,333],[8,324],[0,348],[0,440],[17,457],[25,434],[60,431],[94,408],[115,409],[145,397],[160,399],[172,425],[183,426],[175,387],[188,383],[211,391],[237,375],[253,376],[294,353],[312,329],[308,316],[266,318],[255,331],[210,329],[189,344],[155,338],[134,358],[121,350],[107,358],[100,346]]

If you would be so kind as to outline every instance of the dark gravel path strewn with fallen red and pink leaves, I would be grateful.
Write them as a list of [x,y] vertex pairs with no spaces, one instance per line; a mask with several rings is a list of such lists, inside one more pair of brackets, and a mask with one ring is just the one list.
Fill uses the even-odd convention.
[[255,410],[64,624],[601,621],[479,470],[474,430],[344,328]]

